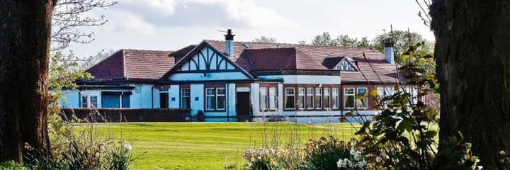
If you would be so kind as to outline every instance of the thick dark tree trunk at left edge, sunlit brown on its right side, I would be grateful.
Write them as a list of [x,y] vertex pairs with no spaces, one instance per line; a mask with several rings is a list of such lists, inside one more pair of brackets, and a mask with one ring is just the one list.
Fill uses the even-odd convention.
[[48,151],[47,69],[52,1],[0,0],[0,162],[25,142]]

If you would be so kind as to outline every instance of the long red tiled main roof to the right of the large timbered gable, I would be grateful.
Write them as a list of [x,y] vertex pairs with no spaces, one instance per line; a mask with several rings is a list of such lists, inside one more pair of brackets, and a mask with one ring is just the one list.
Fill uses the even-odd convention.
[[[225,53],[225,41],[204,41],[219,52]],[[363,57],[363,52],[366,59]],[[395,82],[397,65],[386,62],[385,55],[371,48],[234,41],[234,54],[228,58],[247,72],[252,72],[264,69],[330,70],[344,57],[351,57],[357,62],[360,71],[341,72],[342,81],[366,81],[368,79],[369,81]],[[370,67],[370,64],[373,68]]]

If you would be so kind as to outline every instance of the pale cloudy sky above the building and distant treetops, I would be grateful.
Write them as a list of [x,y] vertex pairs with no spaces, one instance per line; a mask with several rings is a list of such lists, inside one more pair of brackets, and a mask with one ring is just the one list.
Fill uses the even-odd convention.
[[[108,1],[108,0],[107,0]],[[103,26],[79,28],[94,33],[93,42],[72,44],[78,57],[102,50],[179,50],[202,40],[225,40],[218,30],[232,29],[234,40],[260,36],[277,42],[310,42],[314,35],[349,35],[372,40],[394,30],[411,30],[427,40],[433,33],[417,16],[414,0],[117,0],[107,9]]]

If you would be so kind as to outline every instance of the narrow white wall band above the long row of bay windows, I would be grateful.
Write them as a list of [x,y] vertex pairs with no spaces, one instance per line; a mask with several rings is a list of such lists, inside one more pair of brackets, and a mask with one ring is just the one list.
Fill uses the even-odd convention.
[[274,75],[260,76],[259,79],[283,79],[284,84],[340,84],[339,76],[323,75]]

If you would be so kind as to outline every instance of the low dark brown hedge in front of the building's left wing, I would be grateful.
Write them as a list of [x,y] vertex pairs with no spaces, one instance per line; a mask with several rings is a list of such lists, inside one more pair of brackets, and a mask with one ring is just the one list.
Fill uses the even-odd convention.
[[191,121],[189,108],[62,108],[62,118],[75,115],[86,122],[186,122]]

